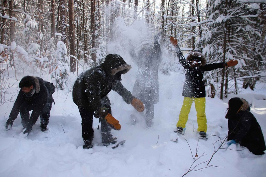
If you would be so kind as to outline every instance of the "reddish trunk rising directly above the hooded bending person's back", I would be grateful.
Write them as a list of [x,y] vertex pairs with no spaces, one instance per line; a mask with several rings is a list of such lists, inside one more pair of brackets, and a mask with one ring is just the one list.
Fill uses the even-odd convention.
[[95,54],[95,0],[90,0],[90,31],[91,31],[91,48],[92,54],[91,59],[96,64],[96,54]]

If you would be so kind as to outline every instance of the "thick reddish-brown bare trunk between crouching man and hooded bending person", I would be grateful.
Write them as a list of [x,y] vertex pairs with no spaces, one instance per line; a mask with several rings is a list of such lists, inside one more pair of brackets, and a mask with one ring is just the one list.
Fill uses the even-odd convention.
[[76,52],[75,52],[75,23],[74,23],[74,7],[73,0],[68,0],[68,18],[69,18],[69,51],[70,51],[70,71],[75,72]]

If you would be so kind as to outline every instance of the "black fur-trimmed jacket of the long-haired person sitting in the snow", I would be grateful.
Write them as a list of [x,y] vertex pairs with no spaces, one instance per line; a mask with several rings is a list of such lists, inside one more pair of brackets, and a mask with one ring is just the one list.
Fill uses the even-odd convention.
[[261,127],[254,115],[249,111],[248,103],[243,101],[241,110],[236,117],[228,118],[227,140],[235,140],[241,146],[247,147],[250,152],[256,155],[264,154],[266,150]]

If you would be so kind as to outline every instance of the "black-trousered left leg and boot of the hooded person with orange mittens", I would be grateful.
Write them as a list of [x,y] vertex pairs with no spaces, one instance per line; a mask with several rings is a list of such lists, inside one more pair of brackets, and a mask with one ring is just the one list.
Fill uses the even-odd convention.
[[92,140],[93,140],[93,127],[92,120],[94,111],[90,111],[87,108],[79,107],[79,113],[81,116],[81,127],[82,127],[82,138],[84,141],[83,148],[88,149],[92,148]]

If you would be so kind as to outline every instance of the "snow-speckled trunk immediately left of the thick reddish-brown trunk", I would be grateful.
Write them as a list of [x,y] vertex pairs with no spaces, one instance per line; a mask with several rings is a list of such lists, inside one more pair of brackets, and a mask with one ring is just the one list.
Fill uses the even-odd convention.
[[[66,8],[66,0],[60,1],[60,32],[62,34],[61,40],[68,46],[68,38],[67,38],[67,8]],[[68,47],[67,47],[68,48]]]

